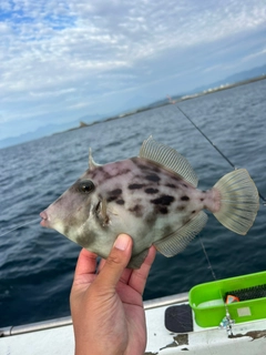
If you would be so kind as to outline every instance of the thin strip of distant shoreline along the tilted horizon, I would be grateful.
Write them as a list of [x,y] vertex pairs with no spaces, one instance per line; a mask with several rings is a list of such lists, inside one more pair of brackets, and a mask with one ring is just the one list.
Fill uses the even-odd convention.
[[252,78],[252,79],[246,79],[246,80],[238,81],[238,82],[235,82],[235,83],[222,84],[222,85],[219,85],[217,88],[207,89],[207,90],[204,90],[202,92],[187,94],[187,95],[182,95],[182,97],[175,97],[175,99],[172,99],[172,101],[165,99],[165,100],[163,100],[163,102],[161,101],[161,103],[156,104],[156,102],[155,102],[155,103],[152,103],[152,104],[150,104],[147,106],[135,109],[135,110],[131,110],[129,112],[124,112],[124,113],[121,113],[119,115],[111,116],[111,118],[108,118],[108,119],[104,119],[104,120],[98,120],[98,121],[94,121],[92,123],[85,123],[85,122],[81,121],[79,126],[69,129],[66,131],[57,132],[57,133],[53,133],[52,135],[61,134],[61,133],[65,133],[65,132],[70,132],[70,131],[75,131],[75,130],[80,130],[80,129],[83,129],[83,128],[86,128],[86,126],[91,126],[91,125],[94,125],[94,124],[99,124],[99,123],[104,123],[104,122],[110,122],[110,121],[123,119],[123,118],[126,118],[126,116],[135,114],[135,113],[149,111],[149,110],[161,108],[161,106],[165,106],[165,105],[168,105],[168,104],[175,104],[175,103],[178,103],[178,102],[182,102],[182,101],[185,101],[185,100],[195,99],[195,98],[203,97],[203,95],[206,95],[206,94],[209,94],[209,93],[214,93],[214,92],[217,92],[217,91],[232,89],[232,88],[235,88],[235,87],[245,85],[245,84],[248,84],[248,83],[252,83],[252,82],[256,82],[256,81],[259,81],[259,80],[265,80],[265,79],[266,79],[266,74],[263,74],[263,75],[259,75],[259,77],[255,77],[255,78]]

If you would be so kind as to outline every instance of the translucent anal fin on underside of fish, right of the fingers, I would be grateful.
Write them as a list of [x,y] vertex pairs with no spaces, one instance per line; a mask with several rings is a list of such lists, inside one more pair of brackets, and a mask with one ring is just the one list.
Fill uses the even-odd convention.
[[184,251],[191,241],[202,231],[206,222],[207,215],[201,211],[180,230],[154,243],[154,246],[164,256],[174,256]]

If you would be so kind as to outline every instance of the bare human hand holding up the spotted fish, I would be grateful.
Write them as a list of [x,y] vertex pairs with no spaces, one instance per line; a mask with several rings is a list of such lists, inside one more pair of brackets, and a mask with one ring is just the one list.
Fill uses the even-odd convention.
[[139,270],[125,268],[132,239],[121,234],[96,270],[96,254],[82,250],[70,295],[75,355],[141,355],[146,346],[142,294],[156,250]]

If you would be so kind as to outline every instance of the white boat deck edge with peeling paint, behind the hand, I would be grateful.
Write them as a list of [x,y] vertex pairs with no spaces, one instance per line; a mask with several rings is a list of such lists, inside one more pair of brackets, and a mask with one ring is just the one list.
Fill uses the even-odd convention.
[[[193,320],[193,332],[175,333],[165,327],[165,311],[187,304],[186,293],[144,303],[147,325],[146,355],[265,355],[266,321],[232,325],[232,335],[219,327],[201,328]],[[184,329],[185,331],[185,329]],[[71,317],[0,329],[1,355],[73,355]],[[140,354],[141,355],[141,354]]]

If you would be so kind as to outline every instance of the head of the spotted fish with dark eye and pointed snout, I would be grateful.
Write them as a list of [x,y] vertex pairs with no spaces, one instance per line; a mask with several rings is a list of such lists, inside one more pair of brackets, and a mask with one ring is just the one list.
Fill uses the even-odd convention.
[[[85,171],[58,200],[40,213],[41,225],[53,229],[90,250],[90,245],[104,237],[109,226],[106,200],[101,195],[98,179],[101,165],[91,160]],[[96,252],[96,251],[95,251]]]

